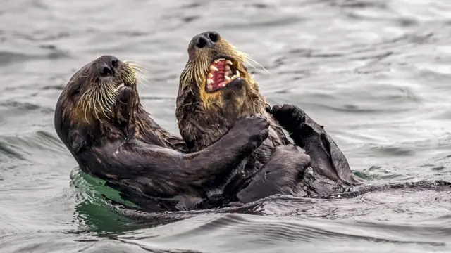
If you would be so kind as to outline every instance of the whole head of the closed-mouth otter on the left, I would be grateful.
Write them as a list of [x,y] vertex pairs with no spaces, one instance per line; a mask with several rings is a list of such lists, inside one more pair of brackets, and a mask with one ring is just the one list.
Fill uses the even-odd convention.
[[137,67],[114,56],[101,56],[82,67],[56,104],[58,136],[66,145],[73,145],[71,136],[75,132],[120,136],[133,119],[132,112],[140,106],[137,82]]

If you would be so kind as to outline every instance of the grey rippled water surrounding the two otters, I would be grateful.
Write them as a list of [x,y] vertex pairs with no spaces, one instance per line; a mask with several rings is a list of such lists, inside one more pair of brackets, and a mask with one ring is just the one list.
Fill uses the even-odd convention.
[[0,252],[451,252],[450,193],[435,190],[173,214],[105,202],[54,131],[63,87],[97,56],[135,60],[144,108],[178,133],[187,44],[207,30],[370,183],[451,180],[449,0],[2,0]]

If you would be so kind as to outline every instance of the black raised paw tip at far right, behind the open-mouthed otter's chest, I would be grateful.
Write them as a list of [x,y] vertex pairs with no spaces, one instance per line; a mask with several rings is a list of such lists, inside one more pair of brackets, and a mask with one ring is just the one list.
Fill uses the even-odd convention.
[[280,126],[289,132],[301,129],[305,123],[305,112],[296,105],[274,105],[271,110]]

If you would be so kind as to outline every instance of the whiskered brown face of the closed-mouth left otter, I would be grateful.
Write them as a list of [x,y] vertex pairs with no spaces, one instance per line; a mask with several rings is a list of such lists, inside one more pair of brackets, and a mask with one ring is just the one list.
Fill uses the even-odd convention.
[[76,72],[60,98],[63,115],[73,124],[114,119],[118,98],[136,100],[137,67],[114,56],[101,56]]

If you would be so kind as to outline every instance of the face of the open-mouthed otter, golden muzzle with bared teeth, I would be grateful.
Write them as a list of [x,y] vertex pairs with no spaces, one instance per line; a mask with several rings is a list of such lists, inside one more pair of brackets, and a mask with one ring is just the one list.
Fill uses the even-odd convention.
[[224,90],[236,89],[242,84],[248,89],[257,88],[244,65],[249,56],[238,51],[217,32],[203,32],[193,37],[188,55],[188,62],[180,75],[180,88],[190,86],[204,103],[218,103]]

